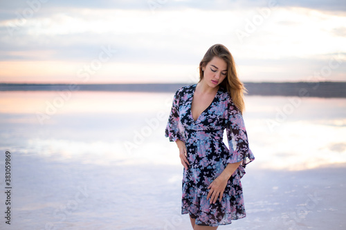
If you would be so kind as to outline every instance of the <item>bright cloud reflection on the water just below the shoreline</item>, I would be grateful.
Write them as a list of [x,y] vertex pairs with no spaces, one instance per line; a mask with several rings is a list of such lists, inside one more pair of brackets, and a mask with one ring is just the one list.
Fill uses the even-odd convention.
[[[180,164],[164,137],[172,93],[0,93],[1,151],[92,164]],[[246,97],[244,119],[266,169],[346,162],[346,99]]]

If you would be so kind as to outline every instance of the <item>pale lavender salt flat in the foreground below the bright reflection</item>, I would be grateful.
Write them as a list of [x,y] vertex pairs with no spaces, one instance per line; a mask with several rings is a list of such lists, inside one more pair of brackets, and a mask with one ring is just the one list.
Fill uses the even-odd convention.
[[[1,229],[191,229],[180,214],[182,166],[101,166],[21,153],[12,162],[12,222],[1,221]],[[247,217],[219,229],[345,229],[345,173],[345,164],[304,171],[249,164]]]

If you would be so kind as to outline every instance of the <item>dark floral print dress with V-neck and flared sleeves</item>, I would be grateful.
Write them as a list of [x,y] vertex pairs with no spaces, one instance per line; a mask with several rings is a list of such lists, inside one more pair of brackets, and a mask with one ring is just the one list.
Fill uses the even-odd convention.
[[[246,216],[240,178],[246,164],[255,160],[248,148],[242,114],[233,104],[227,90],[219,87],[214,100],[195,121],[191,104],[197,84],[176,91],[172,111],[165,129],[171,142],[185,142],[188,170],[183,171],[181,213],[189,213],[195,223],[206,226],[230,224]],[[228,145],[223,142],[226,128]],[[241,162],[231,175],[222,200],[210,204],[208,186],[224,171],[228,163]]]

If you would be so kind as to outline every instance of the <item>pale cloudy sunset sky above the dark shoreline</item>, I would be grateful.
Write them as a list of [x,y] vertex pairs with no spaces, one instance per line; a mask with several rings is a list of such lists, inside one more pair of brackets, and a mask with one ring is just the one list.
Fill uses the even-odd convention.
[[197,82],[213,44],[243,82],[345,82],[346,1],[0,1],[1,83]]

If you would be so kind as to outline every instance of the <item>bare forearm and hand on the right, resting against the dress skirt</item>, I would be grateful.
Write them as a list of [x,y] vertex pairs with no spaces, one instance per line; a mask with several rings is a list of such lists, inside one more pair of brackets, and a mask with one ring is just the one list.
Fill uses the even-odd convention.
[[227,164],[224,171],[222,171],[222,173],[217,178],[215,178],[213,182],[210,183],[210,185],[208,186],[208,189],[210,190],[207,195],[207,200],[210,198],[210,204],[215,204],[217,198],[219,198],[219,200],[221,201],[228,179],[230,179],[230,176],[235,172],[235,170],[241,163],[242,162]]

